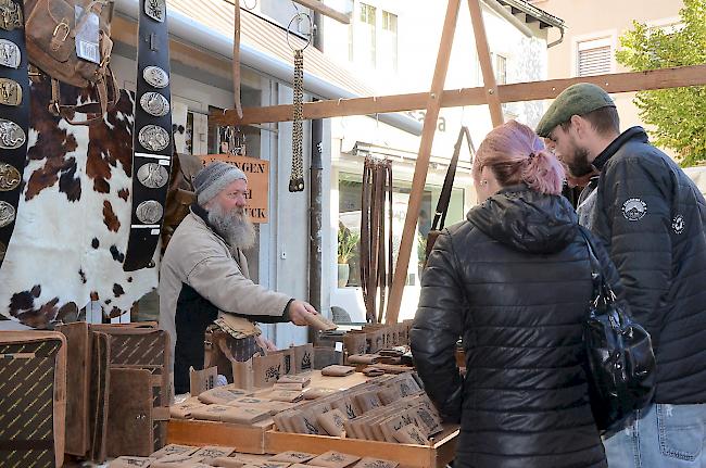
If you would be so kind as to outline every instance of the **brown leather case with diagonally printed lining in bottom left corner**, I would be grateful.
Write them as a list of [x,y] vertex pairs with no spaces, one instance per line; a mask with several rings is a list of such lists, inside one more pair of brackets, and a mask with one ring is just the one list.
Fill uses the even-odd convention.
[[66,340],[55,331],[0,332],[0,465],[62,466]]

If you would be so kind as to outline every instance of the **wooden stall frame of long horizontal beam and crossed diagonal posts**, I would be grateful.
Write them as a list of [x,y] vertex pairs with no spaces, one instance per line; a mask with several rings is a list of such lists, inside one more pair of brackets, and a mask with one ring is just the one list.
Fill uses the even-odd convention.
[[[304,1],[304,0],[301,0]],[[301,1],[299,1],[301,3]],[[310,0],[313,1],[313,0]],[[468,0],[471,12],[474,29],[483,28],[481,0]],[[488,45],[484,41],[484,31],[475,31],[476,48],[483,75],[483,87],[465,88],[458,90],[444,90],[444,78],[449,66],[451,43],[455,35],[456,18],[461,0],[449,0],[444,26],[442,29],[437,65],[432,78],[431,90],[421,93],[368,97],[356,99],[339,99],[317,101],[304,104],[304,118],[328,118],[350,115],[374,115],[388,112],[427,110],[427,117],[421,131],[419,153],[415,163],[415,173],[409,193],[409,204],[405,216],[404,230],[394,278],[388,301],[386,322],[398,321],[406,271],[412,254],[412,244],[416,220],[419,217],[421,194],[427,178],[430,150],[436,134],[436,121],[441,107],[488,104],[491,109],[493,125],[502,123],[502,102],[531,101],[553,99],[564,89],[577,83],[592,83],[603,87],[608,92],[630,92],[651,89],[679,88],[684,86],[706,85],[706,65],[681,66],[645,72],[630,72],[620,74],[606,74],[590,77],[568,79],[554,79],[531,81],[514,85],[496,86],[492,74],[489,74],[490,64]],[[484,47],[484,49],[483,49]],[[292,118],[291,105],[276,105],[268,107],[251,107],[243,110],[242,118],[238,117],[235,110],[225,113],[211,114],[212,122],[218,125],[249,125],[287,122]]]

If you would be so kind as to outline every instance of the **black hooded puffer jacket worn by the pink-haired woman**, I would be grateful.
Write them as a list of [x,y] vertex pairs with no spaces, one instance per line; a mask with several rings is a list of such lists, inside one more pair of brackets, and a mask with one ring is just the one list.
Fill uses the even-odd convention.
[[[607,254],[597,254],[617,286]],[[509,187],[439,237],[411,339],[427,392],[447,420],[461,419],[456,468],[606,466],[583,367],[592,290],[585,241],[563,197]]]

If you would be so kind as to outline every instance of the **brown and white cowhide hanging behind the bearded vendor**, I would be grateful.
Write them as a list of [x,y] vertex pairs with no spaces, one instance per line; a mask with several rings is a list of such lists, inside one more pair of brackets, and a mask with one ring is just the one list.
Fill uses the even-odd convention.
[[[48,111],[50,81],[31,86],[27,166],[2,268],[0,314],[43,328],[68,304],[98,300],[105,315],[156,288],[154,268],[123,271],[130,228],[134,94],[102,121],[71,125]],[[64,103],[89,93],[62,87]],[[80,117],[77,115],[76,117]],[[73,307],[72,307],[73,308]]]

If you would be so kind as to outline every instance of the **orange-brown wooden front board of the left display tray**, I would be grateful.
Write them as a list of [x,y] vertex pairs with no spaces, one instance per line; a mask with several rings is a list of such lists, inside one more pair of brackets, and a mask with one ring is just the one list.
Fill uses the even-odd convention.
[[265,432],[273,421],[252,426],[196,419],[169,419],[167,443],[181,445],[223,445],[236,447],[237,452],[262,455],[265,452]]

